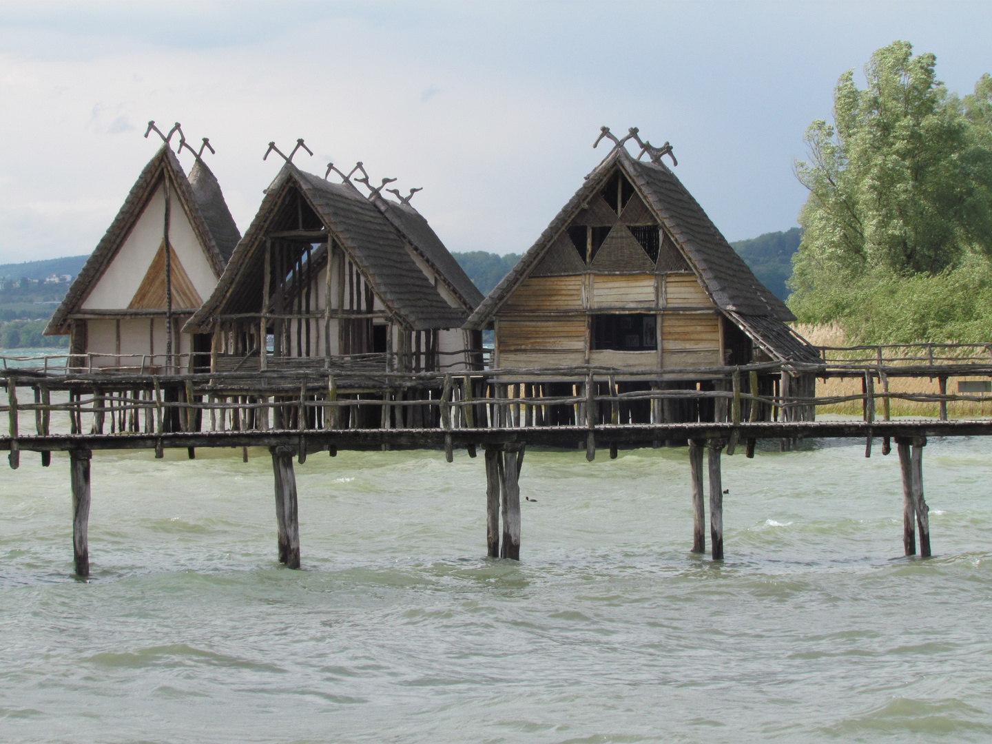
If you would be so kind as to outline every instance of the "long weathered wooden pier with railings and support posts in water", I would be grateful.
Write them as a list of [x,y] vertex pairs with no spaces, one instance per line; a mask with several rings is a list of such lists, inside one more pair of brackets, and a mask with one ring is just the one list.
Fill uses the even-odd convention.
[[[185,448],[194,457],[199,447],[269,447],[279,559],[298,568],[293,460],[304,462],[319,452],[437,448],[451,461],[454,449],[472,457],[483,449],[487,553],[519,559],[519,478],[527,447],[579,448],[592,460],[599,451],[615,457],[621,447],[687,445],[691,550],[706,549],[708,485],[710,550],[719,560],[724,556],[723,455],[743,450],[753,457],[758,440],[775,440],[788,449],[803,438],[857,437],[871,456],[873,443],[881,440],[883,454],[893,442],[898,450],[905,553],[917,554],[919,533],[919,555],[928,557],[923,485],[928,437],[992,434],[992,419],[948,420],[950,402],[992,403],[992,393],[947,392],[953,378],[992,379],[987,345],[975,345],[970,355],[962,354],[962,345],[953,346],[950,356],[934,356],[933,345],[924,349],[925,356],[920,348],[886,356],[882,347],[872,347],[878,354],[869,356],[867,347],[858,347],[824,350],[817,365],[777,362],[663,375],[591,366],[391,373],[349,359],[323,369],[160,376],[126,367],[90,371],[81,365],[60,368],[52,360],[29,367],[24,365],[31,360],[4,359],[8,401],[0,413],[7,415],[9,434],[0,437],[0,449],[8,451],[15,469],[22,453],[40,453],[47,466],[52,451],[68,452],[73,555],[80,576],[89,571],[92,454],[107,449],[154,449],[161,457],[166,448]],[[795,384],[804,377],[860,378],[862,392],[809,395],[808,386]],[[939,393],[892,392],[888,381],[899,377],[936,379]],[[979,387],[988,389],[984,383]],[[893,420],[893,400],[935,403],[939,416]],[[817,408],[850,402],[860,403],[860,418],[815,420]]]

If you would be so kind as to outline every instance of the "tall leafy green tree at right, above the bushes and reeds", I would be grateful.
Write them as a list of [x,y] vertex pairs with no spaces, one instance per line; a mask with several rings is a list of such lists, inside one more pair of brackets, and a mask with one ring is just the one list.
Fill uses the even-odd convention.
[[936,275],[970,253],[992,255],[992,78],[962,100],[935,62],[907,42],[878,50],[864,89],[853,70],[840,76],[834,123],[806,130],[790,300],[801,319],[856,313],[851,288],[867,287],[866,276]]

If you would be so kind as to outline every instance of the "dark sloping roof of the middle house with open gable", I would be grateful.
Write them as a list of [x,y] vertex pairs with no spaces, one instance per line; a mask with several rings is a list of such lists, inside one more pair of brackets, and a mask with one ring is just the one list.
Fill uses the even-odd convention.
[[[400,207],[382,197],[373,202],[350,184],[331,184],[288,163],[267,189],[220,282],[189,319],[187,331],[209,329],[218,315],[261,310],[265,234],[294,189],[328,236],[347,252],[381,302],[410,327],[460,327],[481,300],[427,220],[413,207]],[[417,265],[412,251],[433,266],[461,307],[447,304]]]

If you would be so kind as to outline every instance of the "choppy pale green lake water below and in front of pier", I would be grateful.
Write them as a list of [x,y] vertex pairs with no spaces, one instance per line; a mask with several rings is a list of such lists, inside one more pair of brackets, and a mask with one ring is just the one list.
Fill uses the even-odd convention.
[[313,454],[300,571],[266,450],[97,452],[88,583],[67,458],[25,452],[0,740],[992,740],[992,440],[927,446],[930,560],[895,454],[806,446],[724,457],[721,564],[687,550],[684,449],[529,451],[520,563],[483,557],[481,456]]

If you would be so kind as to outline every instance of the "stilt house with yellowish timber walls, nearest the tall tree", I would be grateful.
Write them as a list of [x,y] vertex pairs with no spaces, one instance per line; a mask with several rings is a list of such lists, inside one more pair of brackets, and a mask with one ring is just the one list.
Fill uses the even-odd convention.
[[495,366],[657,371],[688,381],[672,387],[694,387],[714,367],[817,362],[786,324],[793,313],[662,163],[671,148],[649,143],[651,162],[642,162],[624,147],[629,137],[612,139],[613,151],[468,319],[468,328],[495,330]]

